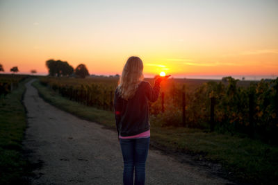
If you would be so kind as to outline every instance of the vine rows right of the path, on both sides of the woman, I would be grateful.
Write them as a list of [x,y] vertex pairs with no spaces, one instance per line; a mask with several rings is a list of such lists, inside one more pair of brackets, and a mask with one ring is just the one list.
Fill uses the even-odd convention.
[[[45,85],[83,105],[113,111],[118,78],[40,78]],[[153,79],[146,79],[151,84]],[[154,126],[184,126],[248,135],[268,143],[278,141],[278,78],[244,82],[169,79],[161,97],[150,103]]]

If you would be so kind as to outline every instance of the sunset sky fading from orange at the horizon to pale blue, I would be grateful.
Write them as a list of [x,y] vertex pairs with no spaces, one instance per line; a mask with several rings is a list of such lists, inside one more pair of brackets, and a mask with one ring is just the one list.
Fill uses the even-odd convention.
[[121,73],[278,76],[278,1],[1,1],[0,64],[47,73],[49,59]]

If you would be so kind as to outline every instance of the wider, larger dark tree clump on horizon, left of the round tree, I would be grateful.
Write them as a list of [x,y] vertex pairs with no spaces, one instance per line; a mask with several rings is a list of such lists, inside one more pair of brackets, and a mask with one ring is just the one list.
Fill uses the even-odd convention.
[[49,69],[49,76],[70,76],[74,73],[74,68],[61,60],[47,60],[46,65]]

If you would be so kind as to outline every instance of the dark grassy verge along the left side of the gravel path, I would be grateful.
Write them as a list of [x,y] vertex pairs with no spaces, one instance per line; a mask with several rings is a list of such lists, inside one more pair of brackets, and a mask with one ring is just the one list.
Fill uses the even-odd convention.
[[28,163],[22,156],[22,139],[26,129],[26,112],[22,104],[23,82],[0,99],[0,184],[20,184],[28,173]]

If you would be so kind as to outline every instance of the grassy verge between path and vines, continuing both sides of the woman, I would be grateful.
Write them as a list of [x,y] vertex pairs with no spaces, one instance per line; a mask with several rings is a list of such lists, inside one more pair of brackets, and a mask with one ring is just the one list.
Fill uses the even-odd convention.
[[[52,105],[89,121],[115,127],[112,112],[63,98],[40,85],[38,81],[33,85],[40,96]],[[228,177],[240,182],[275,184],[278,179],[278,148],[261,141],[184,127],[153,126],[152,143],[163,150],[190,153],[197,160],[216,161],[222,164],[227,172],[231,172]]]

